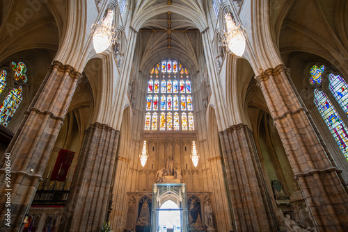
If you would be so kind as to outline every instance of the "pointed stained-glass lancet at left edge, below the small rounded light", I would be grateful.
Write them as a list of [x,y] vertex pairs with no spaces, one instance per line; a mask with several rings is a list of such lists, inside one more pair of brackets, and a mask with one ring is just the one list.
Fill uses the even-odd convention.
[[7,126],[22,101],[22,87],[11,90],[0,106],[0,125]]

